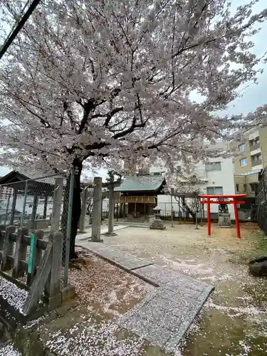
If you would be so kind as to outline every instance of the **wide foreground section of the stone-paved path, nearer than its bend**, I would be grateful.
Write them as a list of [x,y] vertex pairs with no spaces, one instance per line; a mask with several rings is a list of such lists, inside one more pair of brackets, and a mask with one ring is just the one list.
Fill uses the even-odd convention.
[[122,315],[117,323],[166,352],[174,352],[212,289],[177,276]]

